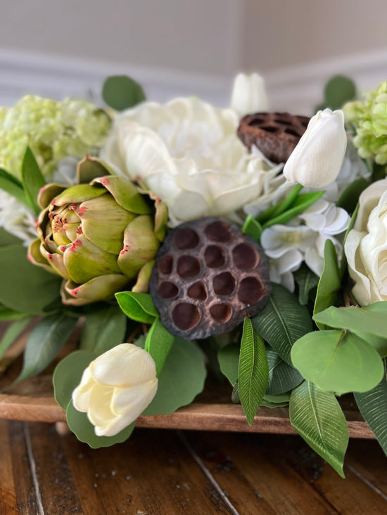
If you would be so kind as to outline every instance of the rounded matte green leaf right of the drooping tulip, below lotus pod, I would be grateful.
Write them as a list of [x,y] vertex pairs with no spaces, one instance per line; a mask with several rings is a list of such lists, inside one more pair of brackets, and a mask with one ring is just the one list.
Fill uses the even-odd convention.
[[175,338],[158,377],[155,398],[142,415],[167,415],[190,404],[205,382],[204,356],[193,341]]

